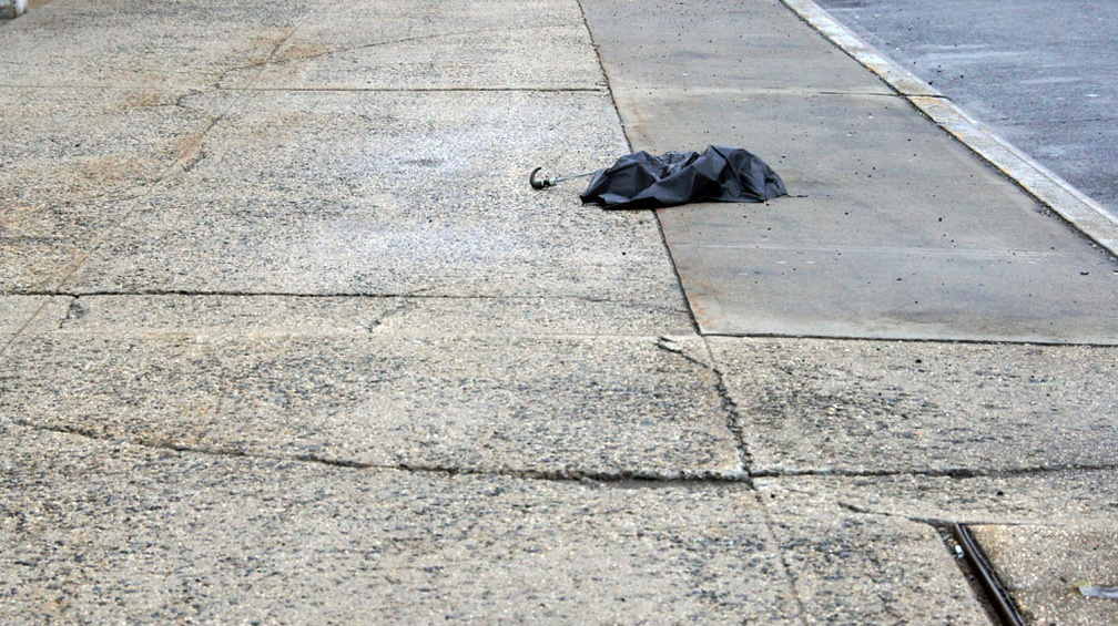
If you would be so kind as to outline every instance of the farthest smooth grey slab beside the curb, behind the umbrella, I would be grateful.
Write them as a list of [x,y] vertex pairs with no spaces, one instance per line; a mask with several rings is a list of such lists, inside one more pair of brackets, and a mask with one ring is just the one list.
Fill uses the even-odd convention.
[[[664,92],[686,92],[695,96],[695,105],[711,93],[727,90],[738,96],[741,92],[892,94],[871,74],[852,70],[846,55],[773,0],[581,4],[626,131],[635,141],[645,132],[637,103]],[[686,116],[683,110],[676,114]],[[742,132],[761,129],[748,117],[730,123]]]

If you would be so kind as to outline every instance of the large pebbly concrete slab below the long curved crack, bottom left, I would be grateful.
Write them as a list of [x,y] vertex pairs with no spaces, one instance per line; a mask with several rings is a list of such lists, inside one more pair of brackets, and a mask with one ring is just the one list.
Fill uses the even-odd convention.
[[6,622],[800,622],[746,485],[0,442]]

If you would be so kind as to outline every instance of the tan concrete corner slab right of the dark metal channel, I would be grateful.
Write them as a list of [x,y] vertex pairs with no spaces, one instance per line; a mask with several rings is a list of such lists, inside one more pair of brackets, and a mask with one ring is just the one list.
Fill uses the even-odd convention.
[[[1112,489],[1112,483],[1111,483]],[[970,526],[998,579],[1030,624],[1114,624],[1118,600],[1080,587],[1118,587],[1118,527]]]

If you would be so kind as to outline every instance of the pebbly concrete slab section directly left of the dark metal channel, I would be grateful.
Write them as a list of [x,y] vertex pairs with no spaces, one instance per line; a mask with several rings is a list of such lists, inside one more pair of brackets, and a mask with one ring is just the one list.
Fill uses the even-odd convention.
[[939,532],[844,510],[827,493],[759,490],[809,624],[989,624]]

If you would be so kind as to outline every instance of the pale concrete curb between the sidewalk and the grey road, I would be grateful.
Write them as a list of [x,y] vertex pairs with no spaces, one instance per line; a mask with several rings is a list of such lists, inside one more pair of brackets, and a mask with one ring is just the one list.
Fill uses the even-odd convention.
[[1101,204],[972,118],[947,96],[883,55],[813,0],[780,0],[841,50],[878,75],[932,122],[1016,182],[1076,230],[1118,257],[1118,218]]

